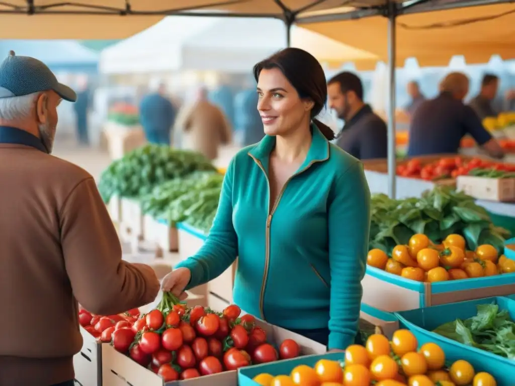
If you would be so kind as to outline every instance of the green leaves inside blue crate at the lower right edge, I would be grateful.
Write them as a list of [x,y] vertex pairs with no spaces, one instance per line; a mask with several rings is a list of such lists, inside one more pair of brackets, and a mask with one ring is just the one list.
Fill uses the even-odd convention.
[[499,310],[496,304],[479,304],[474,317],[442,324],[433,332],[468,346],[515,359],[514,331],[515,322],[507,310]]

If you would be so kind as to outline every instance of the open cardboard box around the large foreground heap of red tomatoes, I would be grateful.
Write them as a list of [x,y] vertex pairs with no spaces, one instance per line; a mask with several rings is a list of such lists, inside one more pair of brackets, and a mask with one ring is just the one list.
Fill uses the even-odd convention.
[[[285,339],[294,339],[301,347],[303,355],[323,354],[327,348],[317,342],[294,334],[277,326],[256,320],[267,333],[270,342],[280,344]],[[167,382],[166,386],[237,386],[236,371],[228,371],[187,381]],[[163,386],[162,379],[145,367],[140,366],[129,357],[118,353],[108,344],[102,345],[102,385],[103,386]]]

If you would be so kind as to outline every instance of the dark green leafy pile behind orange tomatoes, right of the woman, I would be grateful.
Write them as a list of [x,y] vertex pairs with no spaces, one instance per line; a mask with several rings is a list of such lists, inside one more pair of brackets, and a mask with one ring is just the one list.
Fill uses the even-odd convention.
[[436,186],[421,198],[372,195],[369,247],[391,256],[396,245],[407,245],[415,234],[425,234],[435,244],[458,234],[464,236],[468,250],[490,244],[501,252],[509,232],[494,226],[487,210],[474,200],[448,186]]

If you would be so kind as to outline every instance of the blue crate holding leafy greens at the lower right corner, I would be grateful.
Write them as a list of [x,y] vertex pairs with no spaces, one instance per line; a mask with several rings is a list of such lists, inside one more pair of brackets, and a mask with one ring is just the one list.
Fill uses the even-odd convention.
[[396,312],[401,328],[407,328],[417,337],[419,345],[427,342],[438,344],[451,360],[469,361],[476,372],[486,371],[497,380],[498,386],[515,384],[515,361],[500,357],[475,347],[456,342],[432,332],[435,328],[456,319],[468,319],[477,314],[479,304],[497,304],[500,310],[508,310],[515,320],[515,301],[507,297],[487,297],[486,299],[444,304],[410,311]]

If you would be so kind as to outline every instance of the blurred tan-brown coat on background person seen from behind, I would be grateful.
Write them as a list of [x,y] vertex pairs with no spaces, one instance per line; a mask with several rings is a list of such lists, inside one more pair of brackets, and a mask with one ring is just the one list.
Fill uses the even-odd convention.
[[175,131],[182,136],[183,148],[201,152],[210,160],[218,157],[218,147],[231,142],[231,128],[224,113],[208,101],[183,107]]

